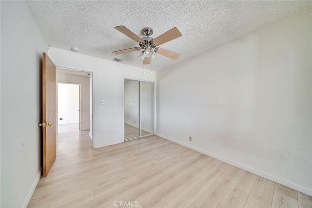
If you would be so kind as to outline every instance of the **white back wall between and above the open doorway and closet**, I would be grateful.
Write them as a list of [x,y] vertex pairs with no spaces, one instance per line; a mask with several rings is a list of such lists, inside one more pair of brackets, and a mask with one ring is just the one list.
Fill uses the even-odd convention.
[[[122,75],[155,80],[155,73],[50,47],[49,57],[59,66],[93,70],[93,143],[95,148],[120,143],[122,140]],[[139,61],[139,60],[138,60]],[[101,100],[105,104],[101,104]]]

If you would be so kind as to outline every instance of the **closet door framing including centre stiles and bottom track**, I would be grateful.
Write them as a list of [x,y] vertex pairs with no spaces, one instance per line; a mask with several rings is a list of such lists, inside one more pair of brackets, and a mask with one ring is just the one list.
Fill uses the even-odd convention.
[[[122,76],[122,141],[125,141],[125,79],[130,79],[130,80],[134,80],[134,81],[143,81],[143,82],[150,82],[154,84],[154,113],[153,113],[153,121],[154,121],[154,134],[155,135],[155,130],[156,130],[156,80],[154,79],[145,79],[145,78],[139,78],[139,77],[135,77],[135,76],[126,76],[123,75]],[[140,93],[140,82],[139,82],[139,93]],[[150,135],[147,135],[150,136]],[[135,137],[133,139],[137,139],[137,138],[143,138],[145,136],[141,137],[141,115],[140,115],[140,99],[139,99],[139,137]],[[126,141],[132,140],[132,138],[127,139]]]

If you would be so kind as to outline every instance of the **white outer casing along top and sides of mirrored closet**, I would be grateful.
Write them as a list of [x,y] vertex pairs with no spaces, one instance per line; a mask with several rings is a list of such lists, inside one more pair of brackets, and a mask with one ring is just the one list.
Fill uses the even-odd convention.
[[[154,83],[154,135],[156,134],[156,80],[122,75],[122,141],[125,141],[125,79]],[[141,120],[141,118],[140,118]],[[140,121],[141,123],[141,121]]]

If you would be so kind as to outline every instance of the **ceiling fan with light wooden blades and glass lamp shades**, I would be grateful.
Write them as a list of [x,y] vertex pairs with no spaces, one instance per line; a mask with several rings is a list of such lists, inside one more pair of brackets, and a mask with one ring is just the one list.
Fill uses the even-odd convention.
[[150,37],[153,34],[153,29],[149,27],[143,28],[142,33],[146,36],[143,38],[139,38],[136,34],[134,34],[128,28],[122,25],[115,27],[115,29],[125,34],[129,38],[135,40],[139,44],[139,47],[113,51],[114,54],[123,54],[131,51],[142,50],[142,53],[139,57],[143,59],[143,64],[150,64],[151,59],[155,58],[155,53],[172,59],[177,59],[178,57],[180,57],[179,54],[158,47],[163,43],[182,36],[180,31],[176,27],[158,36],[157,38]]

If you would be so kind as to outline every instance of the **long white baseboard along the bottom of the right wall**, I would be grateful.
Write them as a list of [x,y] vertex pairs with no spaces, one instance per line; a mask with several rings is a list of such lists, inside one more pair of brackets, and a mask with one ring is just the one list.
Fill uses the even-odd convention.
[[233,160],[231,158],[228,158],[228,157],[216,154],[216,153],[211,152],[211,151],[203,150],[203,149],[198,148],[198,147],[196,147],[194,145],[191,145],[191,144],[188,144],[188,143],[185,143],[185,142],[182,142],[182,141],[179,141],[179,140],[176,140],[176,139],[173,139],[173,138],[161,135],[159,133],[156,133],[156,135],[159,136],[159,137],[162,137],[164,139],[167,139],[169,141],[172,141],[172,142],[175,142],[177,144],[180,144],[180,145],[182,145],[184,147],[187,147],[187,148],[190,148],[192,150],[198,151],[200,153],[206,154],[208,156],[214,157],[215,159],[221,160],[221,161],[223,161],[225,163],[228,163],[230,165],[233,165],[233,166],[235,166],[237,168],[249,171],[249,172],[254,173],[256,175],[260,175],[261,177],[267,178],[267,179],[269,179],[271,181],[274,181],[274,182],[276,182],[278,184],[282,184],[282,185],[284,185],[286,187],[295,189],[297,191],[300,191],[302,193],[305,193],[305,194],[308,194],[308,195],[312,196],[312,187],[308,187],[306,185],[297,183],[295,181],[292,181],[292,180],[289,180],[287,178],[275,175],[273,173],[270,173],[270,172],[267,172],[267,171],[264,171],[264,170],[260,170],[260,169],[254,168],[254,167],[252,167],[250,165],[241,163],[239,161],[236,161],[236,160]]

